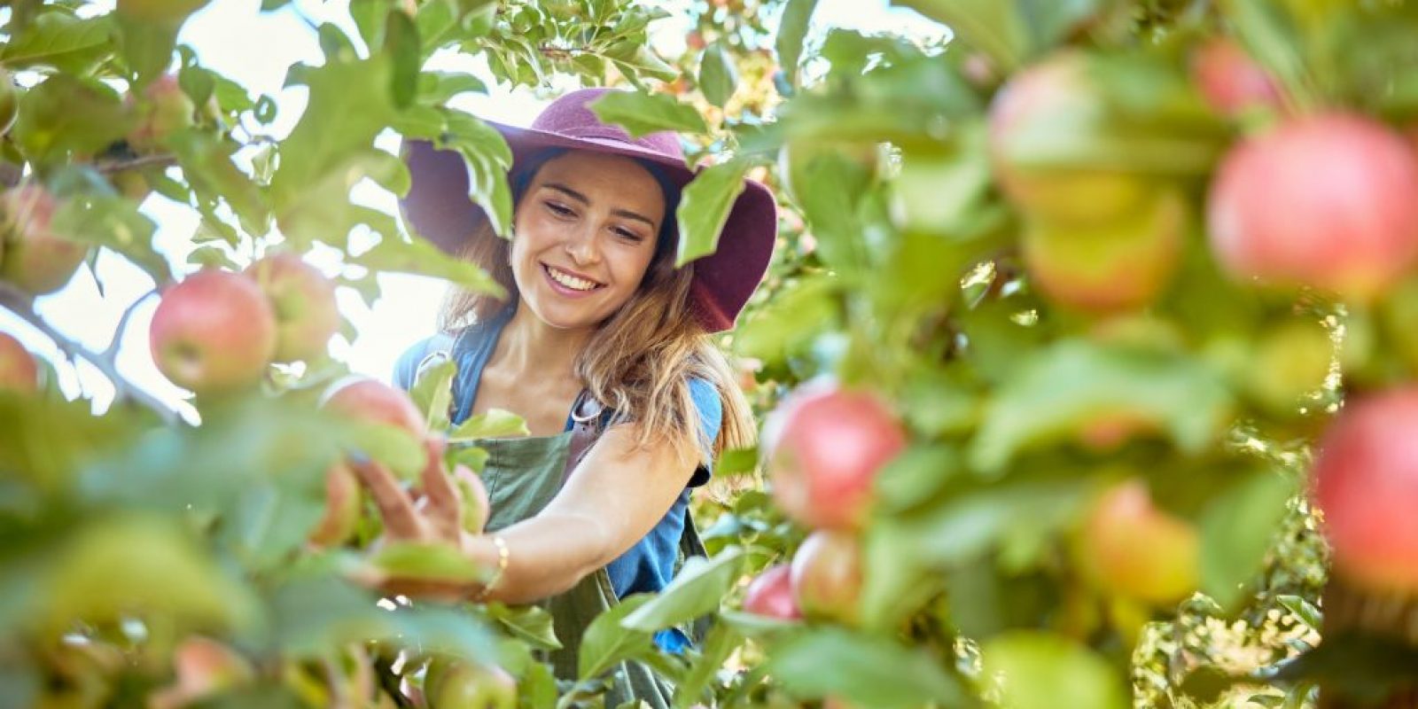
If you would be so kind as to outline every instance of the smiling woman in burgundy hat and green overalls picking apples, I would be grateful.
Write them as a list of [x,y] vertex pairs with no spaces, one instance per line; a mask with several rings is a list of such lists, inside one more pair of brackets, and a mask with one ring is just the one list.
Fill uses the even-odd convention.
[[[457,294],[444,333],[406,352],[396,372],[407,389],[421,363],[447,354],[458,364],[455,425],[491,408],[527,421],[530,437],[478,441],[489,451],[486,533],[459,533],[441,471],[425,474],[428,499],[415,503],[387,471],[359,467],[390,537],[455,540],[498,569],[486,587],[452,593],[546,603],[564,645],[552,657],[562,678],[576,676],[596,615],[664,588],[683,554],[702,550],[689,492],[716,454],[752,445],[754,430],[709,335],[733,326],[777,228],[773,197],[750,182],[718,252],[676,269],[675,207],[693,173],[674,133],[631,139],[601,123],[587,104],[604,91],[557,99],[530,129],[493,123],[513,150],[510,241],[468,200],[457,153],[407,150],[403,207],[414,231],[482,265],[510,295]],[[686,644],[678,630],[655,640],[671,651]],[[671,702],[638,665],[617,676],[607,705],[631,698]]]

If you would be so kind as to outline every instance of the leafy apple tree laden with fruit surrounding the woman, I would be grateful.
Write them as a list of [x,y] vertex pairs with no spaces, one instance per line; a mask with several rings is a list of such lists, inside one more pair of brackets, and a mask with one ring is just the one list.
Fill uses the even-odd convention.
[[[7,700],[601,706],[624,661],[681,708],[1411,700],[1411,3],[902,0],[942,27],[912,40],[712,0],[659,57],[649,4],[352,0],[353,30],[320,24],[323,61],[288,72],[309,94],[288,135],[177,44],[203,4],[6,20],[0,305],[118,393],[65,400],[0,336]],[[536,605],[369,590],[489,570],[380,545],[345,461],[441,467],[476,532],[476,450],[425,435],[525,431],[448,431],[451,366],[406,397],[328,352],[350,337],[336,288],[496,289],[350,199],[407,190],[393,133],[461,152],[509,223],[506,145],[448,105],[488,86],[427,68],[447,51],[503,85],[625,85],[603,118],[681,130],[703,167],[683,262],[742,177],[784,207],[723,339],[764,417],[698,502],[713,554],[600,617],[574,681]],[[146,199],[200,216],[189,262],[155,248]],[[34,308],[101,251],[152,279],[153,360],[194,420]],[[692,651],[655,649],[685,623]]]

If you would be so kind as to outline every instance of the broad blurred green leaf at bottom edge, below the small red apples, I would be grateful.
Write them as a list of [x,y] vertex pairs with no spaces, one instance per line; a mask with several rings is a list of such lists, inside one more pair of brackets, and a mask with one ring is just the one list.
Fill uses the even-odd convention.
[[773,648],[767,662],[773,678],[803,698],[834,695],[881,709],[967,706],[960,681],[942,669],[946,664],[923,649],[839,628],[788,640]]

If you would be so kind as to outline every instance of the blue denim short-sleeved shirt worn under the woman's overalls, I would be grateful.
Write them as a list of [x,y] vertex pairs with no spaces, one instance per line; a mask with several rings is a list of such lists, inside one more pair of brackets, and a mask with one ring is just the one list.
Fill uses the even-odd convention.
[[[454,383],[457,400],[454,401],[452,423],[462,423],[472,411],[472,403],[478,394],[478,381],[482,377],[482,367],[492,356],[498,337],[502,335],[502,328],[510,319],[510,312],[512,308],[503,308],[496,316],[471,326],[457,339],[448,335],[435,335],[408,347],[394,366],[394,384],[406,390],[410,389],[414,383],[418,363],[428,353],[438,349],[451,350],[452,359],[458,363],[458,379]],[[719,393],[713,384],[703,379],[689,380],[689,393],[695,401],[695,407],[699,410],[699,424],[703,427],[712,445],[719,435],[719,424],[723,418],[723,404],[719,400]],[[570,413],[567,413],[566,430],[571,430]],[[617,597],[624,598],[635,593],[657,593],[669,584],[679,553],[679,536],[683,533],[685,519],[689,515],[689,491],[709,482],[710,469],[710,454],[705,451],[703,464],[695,471],[689,485],[669,506],[665,516],[644,539],[605,567]]]

